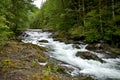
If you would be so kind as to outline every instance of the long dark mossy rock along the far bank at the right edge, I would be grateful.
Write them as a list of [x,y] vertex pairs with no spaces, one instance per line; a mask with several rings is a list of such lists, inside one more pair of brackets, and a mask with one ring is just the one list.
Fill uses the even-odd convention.
[[106,43],[89,44],[86,47],[86,49],[92,50],[92,51],[95,51],[95,52],[98,52],[98,53],[102,53],[102,54],[105,54],[105,55],[109,55],[109,56],[114,57],[114,58],[117,57],[118,55],[120,55],[120,49],[119,48],[113,48]]

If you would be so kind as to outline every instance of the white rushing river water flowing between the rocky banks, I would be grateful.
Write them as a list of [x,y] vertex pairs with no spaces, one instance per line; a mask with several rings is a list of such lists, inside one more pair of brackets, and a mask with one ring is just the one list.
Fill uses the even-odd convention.
[[[103,54],[87,50],[87,44],[79,44],[80,49],[77,49],[73,47],[73,44],[55,41],[51,35],[52,33],[43,32],[42,30],[25,31],[22,41],[48,48],[50,57],[75,66],[74,74],[76,75],[87,74],[96,80],[120,80],[120,58],[103,58]],[[40,42],[40,40],[47,40],[48,43]],[[106,63],[77,57],[75,55],[78,51],[96,54],[106,61]]]

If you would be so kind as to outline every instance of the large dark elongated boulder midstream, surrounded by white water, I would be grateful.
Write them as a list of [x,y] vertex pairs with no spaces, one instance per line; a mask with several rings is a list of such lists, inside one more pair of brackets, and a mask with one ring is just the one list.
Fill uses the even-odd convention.
[[97,55],[95,54],[92,54],[90,52],[77,52],[76,56],[79,56],[83,59],[92,59],[92,60],[96,60],[96,61],[99,61],[101,63],[104,63],[105,61],[103,61],[101,58],[99,58]]

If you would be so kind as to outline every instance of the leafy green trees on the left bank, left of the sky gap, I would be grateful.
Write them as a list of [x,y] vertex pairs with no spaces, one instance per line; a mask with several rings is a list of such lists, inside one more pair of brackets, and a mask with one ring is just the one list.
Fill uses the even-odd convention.
[[32,0],[0,0],[0,44],[19,30],[29,27],[30,15],[37,8]]

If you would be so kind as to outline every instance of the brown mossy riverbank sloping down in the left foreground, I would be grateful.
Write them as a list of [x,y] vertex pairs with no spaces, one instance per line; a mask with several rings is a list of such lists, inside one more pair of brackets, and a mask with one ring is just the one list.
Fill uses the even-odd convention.
[[0,50],[0,80],[91,80],[70,77],[53,63],[43,65],[48,60],[45,51],[30,43],[7,41]]

